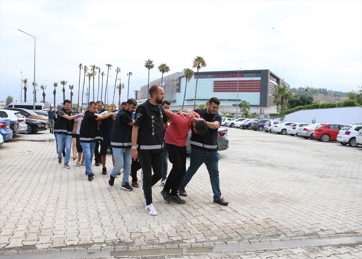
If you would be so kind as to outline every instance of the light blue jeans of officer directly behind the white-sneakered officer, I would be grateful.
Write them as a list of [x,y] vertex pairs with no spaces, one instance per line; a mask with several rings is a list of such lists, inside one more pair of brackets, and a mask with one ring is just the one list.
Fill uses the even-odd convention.
[[128,178],[131,173],[131,149],[116,149],[113,147],[113,155],[114,155],[114,166],[112,171],[109,173],[111,176],[116,177],[118,172],[123,167],[123,179],[122,185],[128,183]]

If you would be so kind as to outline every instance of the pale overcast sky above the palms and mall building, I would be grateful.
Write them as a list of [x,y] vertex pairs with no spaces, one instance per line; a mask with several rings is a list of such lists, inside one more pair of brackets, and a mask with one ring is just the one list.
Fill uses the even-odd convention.
[[[105,72],[105,64],[113,65],[112,97],[117,66],[126,86],[122,96],[127,96],[131,71],[129,95],[134,97],[133,91],[147,84],[145,60],[156,65],[151,81],[161,78],[159,64],[166,63],[173,74],[192,68],[196,56],[207,63],[201,71],[269,69],[290,87],[312,82],[315,88],[351,91],[362,83],[361,3],[1,0],[0,99],[19,100],[20,71],[29,88],[34,79],[34,38],[17,29],[36,37],[35,80],[39,85],[48,80],[46,101],[51,102],[53,84],[61,80],[74,85],[77,97],[80,63]],[[59,103],[62,85],[56,91]],[[32,92],[28,89],[28,101]]]

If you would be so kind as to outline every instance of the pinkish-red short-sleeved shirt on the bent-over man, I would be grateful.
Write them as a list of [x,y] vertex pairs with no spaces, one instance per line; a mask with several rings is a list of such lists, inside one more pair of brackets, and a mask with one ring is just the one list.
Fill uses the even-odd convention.
[[186,146],[187,136],[191,129],[192,117],[201,118],[198,113],[191,115],[189,118],[186,116],[182,117],[176,113],[172,114],[171,123],[165,133],[165,142],[179,147]]

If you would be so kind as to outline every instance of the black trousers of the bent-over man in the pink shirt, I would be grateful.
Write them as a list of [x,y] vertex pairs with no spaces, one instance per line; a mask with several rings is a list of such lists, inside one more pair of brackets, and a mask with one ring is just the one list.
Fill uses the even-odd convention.
[[166,143],[168,151],[168,159],[172,163],[172,169],[167,177],[163,190],[169,192],[171,195],[177,196],[178,187],[180,187],[182,179],[186,173],[186,146],[179,147],[176,145]]

